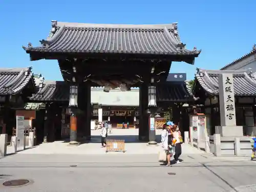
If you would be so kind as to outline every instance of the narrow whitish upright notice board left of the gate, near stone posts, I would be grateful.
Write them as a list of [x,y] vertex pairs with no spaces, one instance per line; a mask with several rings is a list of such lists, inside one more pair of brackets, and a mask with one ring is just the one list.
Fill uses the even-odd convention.
[[16,137],[17,147],[24,147],[25,136],[24,136],[24,116],[16,116]]

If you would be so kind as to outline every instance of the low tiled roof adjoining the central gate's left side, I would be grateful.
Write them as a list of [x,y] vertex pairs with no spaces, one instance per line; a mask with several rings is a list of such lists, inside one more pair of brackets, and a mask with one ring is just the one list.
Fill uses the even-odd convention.
[[33,101],[68,101],[69,84],[64,81],[46,81],[43,88],[30,97]]

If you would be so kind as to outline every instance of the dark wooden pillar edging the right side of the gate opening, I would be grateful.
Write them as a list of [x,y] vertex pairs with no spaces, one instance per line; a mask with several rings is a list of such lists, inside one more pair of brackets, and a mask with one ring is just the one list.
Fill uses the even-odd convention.
[[148,86],[143,83],[139,91],[140,106],[139,106],[139,140],[148,141],[149,127],[148,127],[148,114],[146,109],[148,106]]

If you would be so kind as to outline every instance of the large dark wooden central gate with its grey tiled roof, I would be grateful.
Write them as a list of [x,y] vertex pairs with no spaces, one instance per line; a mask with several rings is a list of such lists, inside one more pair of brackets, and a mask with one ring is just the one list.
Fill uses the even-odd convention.
[[[148,118],[156,110],[156,86],[164,82],[172,61],[193,64],[200,50],[187,50],[177,23],[169,25],[107,25],[52,21],[47,39],[39,47],[23,47],[30,59],[56,59],[69,82],[70,141],[77,132],[91,137],[91,86],[105,91],[140,88],[139,139],[155,140]],[[74,121],[74,118],[77,119]]]

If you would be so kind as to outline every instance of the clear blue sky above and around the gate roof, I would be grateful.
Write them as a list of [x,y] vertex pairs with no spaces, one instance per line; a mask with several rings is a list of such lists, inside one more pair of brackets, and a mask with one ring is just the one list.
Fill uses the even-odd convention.
[[[37,2],[37,3],[35,3]],[[251,51],[256,43],[255,0],[215,1],[13,1],[0,0],[0,67],[33,66],[35,74],[62,80],[56,60],[30,61],[22,49],[39,45],[51,20],[104,24],[169,24],[187,48],[202,49],[195,65],[175,62],[170,72],[193,79],[196,68],[220,69]]]

